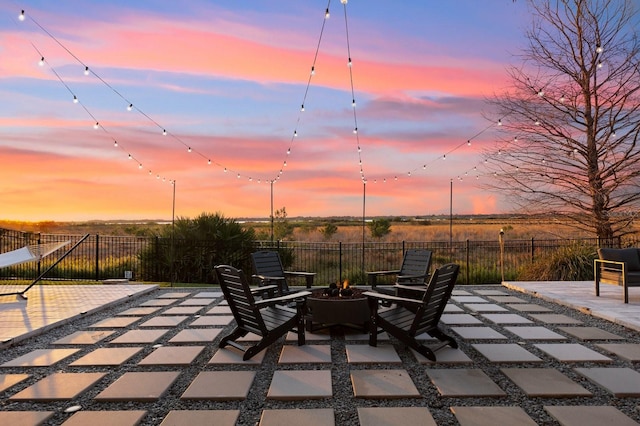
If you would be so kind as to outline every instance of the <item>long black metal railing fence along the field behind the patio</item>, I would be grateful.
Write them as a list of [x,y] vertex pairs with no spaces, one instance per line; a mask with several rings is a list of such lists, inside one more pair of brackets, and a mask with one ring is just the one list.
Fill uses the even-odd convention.
[[[0,279],[34,279],[76,242],[81,235],[25,233],[0,229],[0,253],[31,244],[70,240],[65,248],[40,262],[24,263],[0,269]],[[431,268],[448,262],[461,267],[460,284],[495,284],[504,279],[516,279],[518,271],[560,248],[576,243],[593,246],[632,246],[636,240],[609,241],[574,240],[506,240],[453,242],[291,242],[258,241],[253,247],[216,258],[216,248],[207,241],[181,241],[190,250],[175,250],[176,241],[158,237],[90,235],[44,277],[48,280],[104,280],[130,278],[135,281],[214,283],[212,267],[228,263],[251,273],[249,253],[252,250],[278,249],[289,270],[315,272],[316,285],[349,279],[355,284],[366,283],[364,271],[394,270],[400,267],[404,251],[413,248],[431,250]],[[167,255],[167,253],[169,255]],[[179,253],[179,254],[177,254]],[[501,255],[501,253],[503,253]],[[196,258],[197,259],[194,259]],[[501,258],[503,264],[501,263]],[[194,266],[195,265],[195,266]],[[181,270],[178,274],[176,271]],[[186,272],[184,272],[186,270]]]

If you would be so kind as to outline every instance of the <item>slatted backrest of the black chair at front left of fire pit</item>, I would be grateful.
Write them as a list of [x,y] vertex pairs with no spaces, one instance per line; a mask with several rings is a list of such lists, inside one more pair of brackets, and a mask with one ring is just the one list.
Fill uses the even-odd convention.
[[260,310],[255,306],[249,282],[239,269],[228,265],[216,266],[218,283],[239,327],[264,336],[267,334]]

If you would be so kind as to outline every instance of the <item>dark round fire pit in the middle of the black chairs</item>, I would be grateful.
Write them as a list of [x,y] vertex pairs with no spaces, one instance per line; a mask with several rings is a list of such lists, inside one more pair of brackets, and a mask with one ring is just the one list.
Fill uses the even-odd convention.
[[370,312],[363,293],[348,285],[342,289],[329,287],[312,291],[307,296],[307,330],[343,325],[367,331]]

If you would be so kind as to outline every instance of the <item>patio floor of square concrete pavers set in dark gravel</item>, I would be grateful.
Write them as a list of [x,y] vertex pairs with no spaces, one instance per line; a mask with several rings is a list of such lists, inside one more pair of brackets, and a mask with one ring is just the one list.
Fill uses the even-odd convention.
[[[366,334],[346,329],[307,332],[302,347],[290,333],[243,362],[236,350],[217,347],[233,321],[219,289],[37,286],[26,301],[0,298],[2,345],[23,349],[0,365],[0,424],[538,424],[513,404],[525,398],[539,401],[545,418],[552,419],[544,424],[637,425],[640,344],[622,334],[640,331],[640,289],[630,290],[625,305],[619,287],[603,286],[598,298],[592,287],[456,287],[442,322],[460,348],[437,352],[438,362],[432,363],[413,351],[399,352],[384,335],[374,348]],[[30,337],[105,308],[109,315],[95,322],[41,347],[30,344]],[[591,327],[582,314],[629,330]],[[265,384],[258,377],[266,374],[266,356],[275,356],[277,365]],[[337,364],[345,367],[336,372]],[[42,373],[51,367],[55,371]],[[496,370],[501,380],[490,377]],[[336,395],[344,388],[336,380],[345,377],[351,395]],[[187,384],[177,385],[180,380]],[[263,395],[264,407],[244,406],[255,393]],[[596,395],[609,403],[590,403]],[[89,403],[80,406],[81,398]],[[336,418],[339,398],[355,403],[349,421]],[[157,408],[159,402],[169,408]]]

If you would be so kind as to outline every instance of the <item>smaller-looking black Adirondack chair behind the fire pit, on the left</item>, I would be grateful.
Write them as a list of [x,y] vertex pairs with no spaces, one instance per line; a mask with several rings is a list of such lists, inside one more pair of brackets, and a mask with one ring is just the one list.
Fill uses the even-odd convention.
[[283,296],[289,294],[288,279],[304,278],[307,288],[313,286],[314,272],[285,271],[282,267],[280,255],[274,250],[260,250],[251,253],[254,274],[252,278],[259,286],[278,286],[278,293]]

